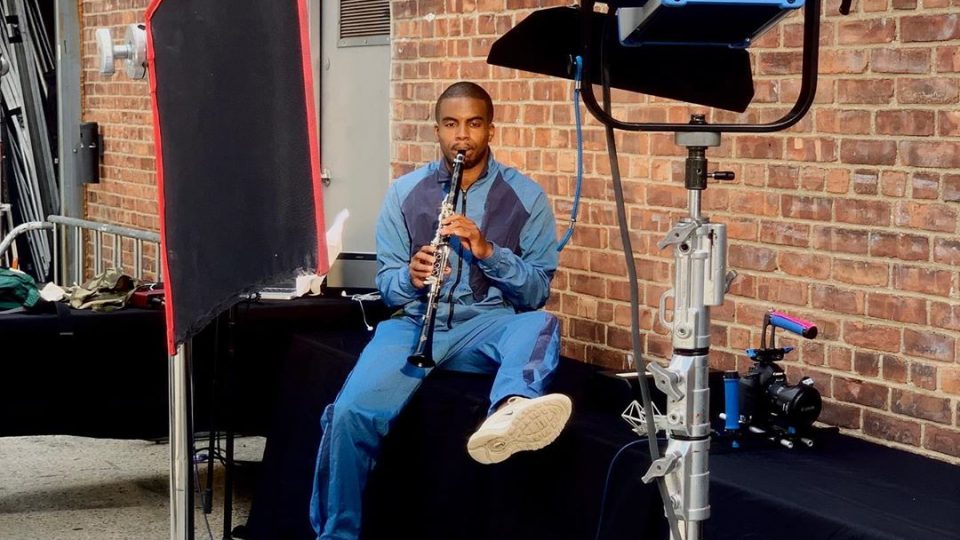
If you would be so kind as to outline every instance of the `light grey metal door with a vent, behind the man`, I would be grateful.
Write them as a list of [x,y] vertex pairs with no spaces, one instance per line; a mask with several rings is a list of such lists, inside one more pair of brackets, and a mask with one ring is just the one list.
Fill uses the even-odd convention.
[[[390,180],[390,2],[313,0],[327,227],[344,209],[344,251],[374,251]],[[317,17],[313,20],[316,21]],[[313,32],[316,36],[317,32]],[[332,246],[331,246],[332,247]]]

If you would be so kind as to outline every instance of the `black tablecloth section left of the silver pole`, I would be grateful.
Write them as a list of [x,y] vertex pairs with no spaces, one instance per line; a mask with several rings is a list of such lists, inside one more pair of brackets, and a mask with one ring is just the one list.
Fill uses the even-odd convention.
[[0,436],[165,437],[163,312],[0,313]]

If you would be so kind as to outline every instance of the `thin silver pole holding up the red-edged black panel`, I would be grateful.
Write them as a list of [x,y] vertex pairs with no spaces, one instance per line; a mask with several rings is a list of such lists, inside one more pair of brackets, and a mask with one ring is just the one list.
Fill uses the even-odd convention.
[[170,540],[193,540],[193,425],[190,403],[190,345],[169,357]]

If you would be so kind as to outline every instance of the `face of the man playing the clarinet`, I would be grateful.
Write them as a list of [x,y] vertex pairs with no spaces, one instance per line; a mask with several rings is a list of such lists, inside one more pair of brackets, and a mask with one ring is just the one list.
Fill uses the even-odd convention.
[[457,97],[440,102],[437,141],[443,157],[453,163],[458,150],[466,150],[464,168],[472,169],[487,159],[493,124],[487,121],[487,106],[480,99]]

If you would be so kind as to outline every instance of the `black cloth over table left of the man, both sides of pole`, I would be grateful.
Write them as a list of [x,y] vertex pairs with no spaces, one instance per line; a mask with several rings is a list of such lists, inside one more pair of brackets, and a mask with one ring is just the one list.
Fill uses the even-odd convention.
[[[373,322],[385,316],[385,308],[367,302],[366,313]],[[191,357],[197,431],[208,430],[212,420],[221,430],[229,422],[241,433],[266,434],[274,424],[284,359],[302,353],[291,351],[294,337],[329,327],[335,335],[329,343],[352,351],[369,334],[362,315],[356,302],[342,298],[241,304],[232,363],[225,318],[209,325],[193,340]],[[40,313],[0,313],[0,343],[0,436],[169,435],[162,311],[58,314],[48,307]]]

